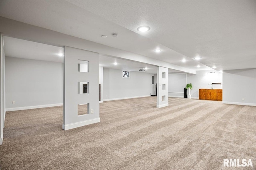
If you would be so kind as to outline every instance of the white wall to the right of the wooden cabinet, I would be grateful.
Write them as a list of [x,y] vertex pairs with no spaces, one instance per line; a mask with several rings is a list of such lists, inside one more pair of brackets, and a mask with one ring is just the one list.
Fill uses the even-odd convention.
[[223,103],[256,106],[256,68],[223,72]]

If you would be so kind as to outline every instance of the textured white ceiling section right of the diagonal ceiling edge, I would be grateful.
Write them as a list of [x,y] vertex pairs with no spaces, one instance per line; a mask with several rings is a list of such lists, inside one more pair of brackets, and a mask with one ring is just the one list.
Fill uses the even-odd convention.
[[69,2],[217,70],[256,67],[256,1]]

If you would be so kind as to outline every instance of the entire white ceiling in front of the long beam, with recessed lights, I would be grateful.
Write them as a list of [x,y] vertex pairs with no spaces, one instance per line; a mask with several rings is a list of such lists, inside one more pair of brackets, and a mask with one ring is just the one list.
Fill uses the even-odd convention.
[[1,0],[0,16],[193,70],[256,68],[256,1]]

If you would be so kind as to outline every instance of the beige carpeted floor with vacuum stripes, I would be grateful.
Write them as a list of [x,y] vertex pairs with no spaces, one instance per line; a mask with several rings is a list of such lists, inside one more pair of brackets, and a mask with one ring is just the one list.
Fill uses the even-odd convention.
[[256,167],[256,107],[156,97],[100,104],[100,123],[62,130],[62,107],[6,113],[0,169],[239,170]]

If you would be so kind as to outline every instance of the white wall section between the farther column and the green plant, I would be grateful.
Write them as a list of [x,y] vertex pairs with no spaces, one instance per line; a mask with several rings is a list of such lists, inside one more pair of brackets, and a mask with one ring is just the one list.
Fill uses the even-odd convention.
[[186,73],[169,74],[169,96],[184,98],[184,87],[186,86]]

